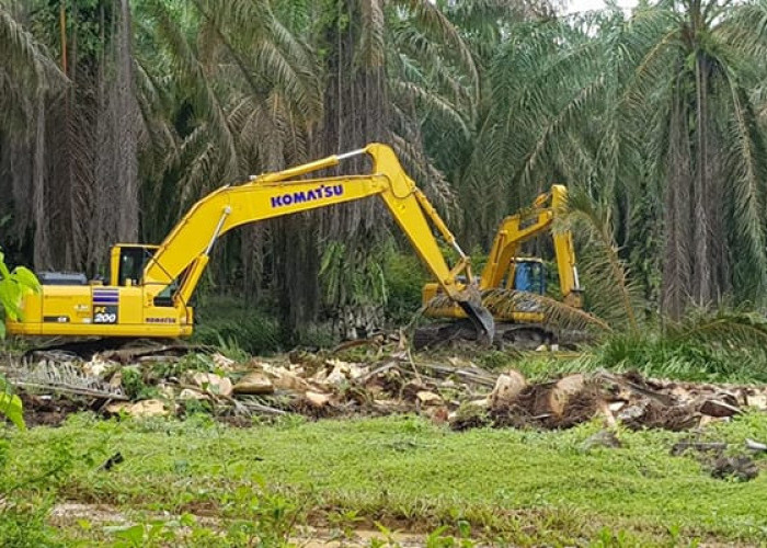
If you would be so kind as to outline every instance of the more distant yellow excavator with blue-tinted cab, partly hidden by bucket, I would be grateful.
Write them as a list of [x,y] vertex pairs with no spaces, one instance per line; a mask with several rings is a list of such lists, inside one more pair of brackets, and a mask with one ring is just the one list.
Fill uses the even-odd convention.
[[[552,324],[535,296],[546,295],[546,264],[539,258],[520,256],[522,246],[551,230],[559,212],[566,207],[568,190],[556,184],[540,194],[531,207],[503,219],[493,240],[488,262],[479,279],[482,302],[495,319],[495,340],[520,349],[557,342]],[[581,309],[583,295],[575,263],[573,237],[569,230],[552,233],[562,302]],[[416,347],[436,346],[450,341],[472,339],[465,322],[467,316],[444,298],[439,284],[423,288],[424,316],[449,319],[416,330]]]

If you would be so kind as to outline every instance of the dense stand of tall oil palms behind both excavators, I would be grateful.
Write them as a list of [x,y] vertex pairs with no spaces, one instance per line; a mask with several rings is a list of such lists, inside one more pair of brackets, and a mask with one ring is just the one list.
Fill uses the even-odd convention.
[[[0,0],[7,260],[94,275],[112,242],[160,241],[217,186],[384,141],[478,254],[503,216],[568,184],[602,317],[636,330],[759,309],[767,2],[558,12],[512,0]],[[257,302],[288,340],[328,317],[343,330],[347,317],[381,322],[386,301],[417,307],[411,255],[375,203],[353,204],[230,236],[204,295]]]

